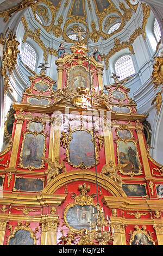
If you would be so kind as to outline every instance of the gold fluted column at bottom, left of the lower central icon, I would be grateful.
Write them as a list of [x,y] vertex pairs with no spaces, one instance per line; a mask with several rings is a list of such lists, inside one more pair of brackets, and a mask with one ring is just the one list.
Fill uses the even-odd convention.
[[42,220],[41,245],[56,245],[58,220]]

